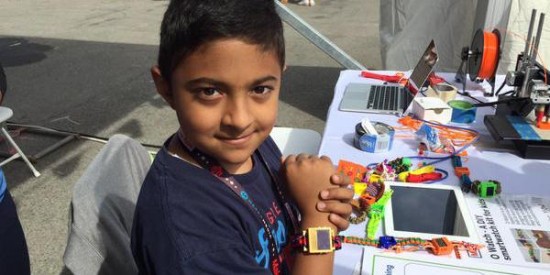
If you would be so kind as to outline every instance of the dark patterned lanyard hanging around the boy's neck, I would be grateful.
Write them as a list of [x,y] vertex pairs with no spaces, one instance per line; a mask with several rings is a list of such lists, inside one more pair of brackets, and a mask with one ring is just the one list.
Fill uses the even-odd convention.
[[[258,209],[252,198],[248,195],[248,192],[244,189],[244,187],[235,179],[235,177],[231,176],[223,167],[218,163],[218,161],[203,152],[201,152],[198,148],[188,145],[185,142],[185,138],[183,136],[183,133],[181,129],[177,133],[179,142],[183,145],[182,147],[187,150],[187,153],[193,157],[195,161],[199,163],[200,166],[202,166],[204,169],[210,171],[210,173],[215,176],[218,180],[223,182],[237,197],[241,198],[241,201],[249,207],[249,209],[258,217],[258,219],[261,221],[264,230],[267,234],[267,238],[269,240],[269,250],[271,254],[271,266],[272,267],[278,267],[280,266],[281,262],[279,261],[279,257],[277,256],[277,244],[275,242],[275,237],[273,236],[273,233],[271,232],[271,229],[264,218],[264,215],[262,215],[262,212]],[[279,204],[284,205],[288,216],[290,217],[290,220],[292,222],[293,231],[298,230],[298,220],[296,216],[294,215],[294,212],[292,211],[292,208],[288,201],[285,199],[282,186],[280,184],[279,178],[271,171],[269,168],[269,165],[265,161],[264,157],[262,156],[262,153],[259,150],[256,150],[254,153],[257,153],[263,166],[266,168],[267,172],[269,173],[269,177],[271,178],[271,181],[274,183],[275,188],[277,189],[276,198]],[[275,268],[278,269],[278,268]]]

